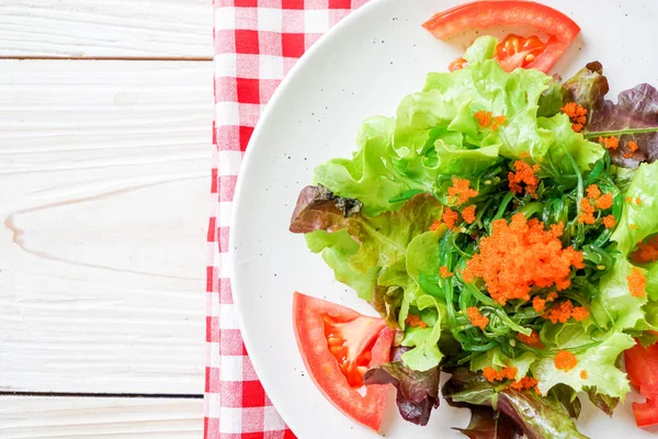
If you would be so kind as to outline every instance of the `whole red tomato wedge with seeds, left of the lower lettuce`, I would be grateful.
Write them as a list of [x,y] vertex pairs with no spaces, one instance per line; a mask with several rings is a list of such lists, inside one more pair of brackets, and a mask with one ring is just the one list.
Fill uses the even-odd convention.
[[386,386],[356,392],[363,374],[389,361],[394,331],[382,318],[295,292],[297,346],[316,385],[342,413],[377,431],[386,407]]

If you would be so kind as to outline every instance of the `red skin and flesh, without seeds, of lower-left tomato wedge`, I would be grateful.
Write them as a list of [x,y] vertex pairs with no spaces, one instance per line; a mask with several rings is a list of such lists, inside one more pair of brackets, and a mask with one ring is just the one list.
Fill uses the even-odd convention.
[[348,344],[351,347],[360,345],[358,349],[370,350],[372,353],[370,367],[389,361],[395,331],[389,329],[382,318],[362,316],[344,306],[295,292],[293,299],[295,336],[313,381],[325,397],[342,413],[377,431],[384,418],[387,389],[385,385],[368,385],[365,396],[362,396],[350,385],[339,361],[329,350],[325,334],[327,317],[338,324],[358,322],[356,326],[365,328],[362,331],[364,339],[354,340],[351,337]]

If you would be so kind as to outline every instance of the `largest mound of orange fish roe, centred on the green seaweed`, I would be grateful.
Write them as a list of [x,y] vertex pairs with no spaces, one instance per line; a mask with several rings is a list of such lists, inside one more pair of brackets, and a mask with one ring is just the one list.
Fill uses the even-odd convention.
[[489,295],[501,305],[512,299],[530,301],[532,288],[559,291],[570,285],[571,267],[583,268],[582,252],[563,248],[558,239],[561,228],[546,230],[536,218],[527,221],[522,213],[491,223],[491,235],[479,243],[479,252],[466,262],[466,282],[481,278]]

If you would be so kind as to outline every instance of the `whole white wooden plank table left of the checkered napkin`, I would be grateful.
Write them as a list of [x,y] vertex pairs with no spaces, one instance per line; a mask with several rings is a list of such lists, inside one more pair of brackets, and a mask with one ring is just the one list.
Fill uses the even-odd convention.
[[211,0],[0,0],[0,438],[201,438]]

